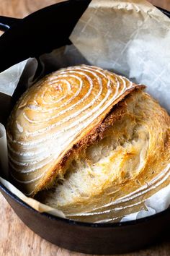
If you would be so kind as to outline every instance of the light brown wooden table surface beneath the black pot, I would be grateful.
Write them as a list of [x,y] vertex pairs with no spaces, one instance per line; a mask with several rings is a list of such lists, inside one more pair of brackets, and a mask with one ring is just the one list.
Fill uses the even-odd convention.
[[[57,2],[57,0],[0,0],[0,15],[22,18],[37,9]],[[151,0],[151,2],[170,10],[170,0]],[[81,255],[80,253],[69,252],[66,249],[50,244],[44,239],[41,239],[40,236],[34,234],[19,220],[2,195],[0,195],[0,205],[0,256]],[[140,252],[130,253],[126,256],[135,255],[170,255],[170,235],[160,244],[140,250]]]

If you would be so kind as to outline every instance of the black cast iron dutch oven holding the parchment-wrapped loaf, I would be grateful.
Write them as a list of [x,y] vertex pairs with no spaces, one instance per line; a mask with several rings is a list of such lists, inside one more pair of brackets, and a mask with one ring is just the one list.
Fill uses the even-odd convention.
[[[22,20],[0,17],[0,72],[29,57],[70,44],[73,27],[90,0],[70,0],[40,9]],[[161,9],[170,17],[170,13]],[[81,223],[39,213],[0,183],[2,195],[22,221],[42,238],[77,252],[114,254],[146,247],[166,234],[170,209],[124,223]]]

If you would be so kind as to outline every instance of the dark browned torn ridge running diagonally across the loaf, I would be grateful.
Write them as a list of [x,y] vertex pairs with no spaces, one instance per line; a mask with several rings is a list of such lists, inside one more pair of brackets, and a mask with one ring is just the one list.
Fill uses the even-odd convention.
[[84,132],[81,132],[81,135],[77,137],[76,141],[73,143],[73,145],[71,145],[71,148],[69,150],[67,149],[66,153],[63,153],[61,156],[61,161],[58,162],[55,167],[53,167],[53,171],[50,171],[50,176],[48,176],[47,179],[43,179],[42,183],[37,189],[35,189],[31,196],[34,197],[37,192],[41,191],[42,189],[49,189],[50,187],[53,187],[56,179],[63,179],[69,164],[73,158],[76,158],[76,155],[79,155],[82,148],[86,148],[88,145],[102,140],[102,135],[107,127],[112,126],[114,121],[120,119],[121,115],[123,114],[123,109],[119,116],[116,116],[115,112],[112,114],[112,111],[117,108],[117,104],[118,106],[119,104],[121,105],[121,102],[125,104],[124,99],[128,95],[131,95],[131,93],[133,93],[135,90],[143,90],[144,88],[146,88],[145,85],[134,84],[133,88],[130,88],[123,95],[120,95],[120,98],[117,98],[117,101],[114,102],[114,106],[109,106],[107,111],[104,111],[102,118],[99,116],[99,122],[95,125],[95,127],[92,127],[92,129],[88,132],[86,131],[86,135],[84,135]]

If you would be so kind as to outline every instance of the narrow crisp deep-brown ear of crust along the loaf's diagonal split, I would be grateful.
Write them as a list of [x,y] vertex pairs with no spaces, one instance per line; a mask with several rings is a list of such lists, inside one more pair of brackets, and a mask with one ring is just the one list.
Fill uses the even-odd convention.
[[[133,93],[133,91],[143,90],[144,88],[146,88],[145,85],[140,85],[140,86],[136,85],[135,88],[132,88],[131,90],[126,91],[126,93],[117,100],[117,102],[122,101],[118,106],[118,108],[117,106],[114,106],[109,111],[109,113],[107,113],[107,115],[104,116],[104,119],[102,119],[99,122],[99,124],[97,124],[96,127],[93,127],[86,135],[84,135],[84,137],[81,140],[78,139],[78,142],[73,144],[72,148],[68,150],[68,152],[65,155],[63,155],[63,158],[61,159],[61,161],[56,166],[53,167],[53,170],[51,171],[50,176],[48,176],[48,179],[43,180],[43,183],[40,185],[38,191],[53,187],[53,184],[56,178],[62,179],[62,177],[66,173],[66,169],[68,168],[68,165],[71,163],[73,158],[76,158],[77,156],[79,156],[82,149],[87,148],[89,145],[94,144],[99,140],[102,140],[105,130],[108,127],[112,126],[114,124],[114,121],[117,121],[122,117],[124,112],[123,105],[125,105],[125,101],[123,101],[123,99],[128,97],[128,95],[130,93]],[[116,112],[118,112],[118,115],[114,111],[115,108],[116,108]],[[38,191],[36,191],[35,194],[37,194]]]

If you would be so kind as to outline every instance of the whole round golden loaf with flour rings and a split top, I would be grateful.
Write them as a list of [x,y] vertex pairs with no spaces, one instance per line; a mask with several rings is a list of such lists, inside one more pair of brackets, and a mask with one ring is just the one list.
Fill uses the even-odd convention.
[[7,125],[14,184],[81,221],[142,208],[170,163],[170,117],[144,88],[85,65],[37,82]]

